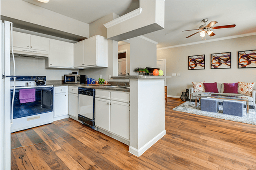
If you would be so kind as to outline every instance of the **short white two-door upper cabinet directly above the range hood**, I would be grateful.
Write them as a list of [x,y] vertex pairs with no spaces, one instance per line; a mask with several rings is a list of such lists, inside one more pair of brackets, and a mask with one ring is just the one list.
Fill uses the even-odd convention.
[[49,42],[50,40],[48,38],[13,31],[14,48],[40,50],[48,52]]

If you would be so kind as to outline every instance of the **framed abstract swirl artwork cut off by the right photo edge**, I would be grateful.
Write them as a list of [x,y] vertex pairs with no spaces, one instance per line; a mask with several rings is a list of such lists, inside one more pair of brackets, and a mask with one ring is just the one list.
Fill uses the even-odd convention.
[[256,50],[240,51],[238,56],[238,68],[256,68]]

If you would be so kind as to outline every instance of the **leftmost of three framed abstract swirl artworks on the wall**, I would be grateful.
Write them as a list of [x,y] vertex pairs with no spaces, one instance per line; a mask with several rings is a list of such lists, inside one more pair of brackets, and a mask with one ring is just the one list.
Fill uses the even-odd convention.
[[205,69],[204,63],[205,63],[205,55],[188,56],[188,69],[189,70]]

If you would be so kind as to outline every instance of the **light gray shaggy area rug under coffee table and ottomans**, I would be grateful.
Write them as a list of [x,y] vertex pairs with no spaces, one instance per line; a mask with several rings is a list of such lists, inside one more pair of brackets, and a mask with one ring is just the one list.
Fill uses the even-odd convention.
[[256,125],[256,110],[255,109],[249,109],[248,117],[246,116],[245,108],[243,111],[243,117],[239,117],[239,116],[223,114],[223,106],[222,105],[219,105],[218,113],[201,111],[200,108],[196,109],[195,102],[182,103],[181,105],[178,105],[177,107],[173,108],[173,110],[191,113],[191,114],[195,114],[195,115],[208,116],[208,117],[219,118],[219,119],[224,119],[224,120],[231,120],[234,122],[241,122],[241,123]]

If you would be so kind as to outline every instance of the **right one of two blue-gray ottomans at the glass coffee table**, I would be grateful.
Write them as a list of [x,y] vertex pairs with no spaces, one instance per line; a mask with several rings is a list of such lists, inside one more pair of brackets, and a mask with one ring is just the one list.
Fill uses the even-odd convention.
[[243,117],[243,102],[223,100],[223,114]]

